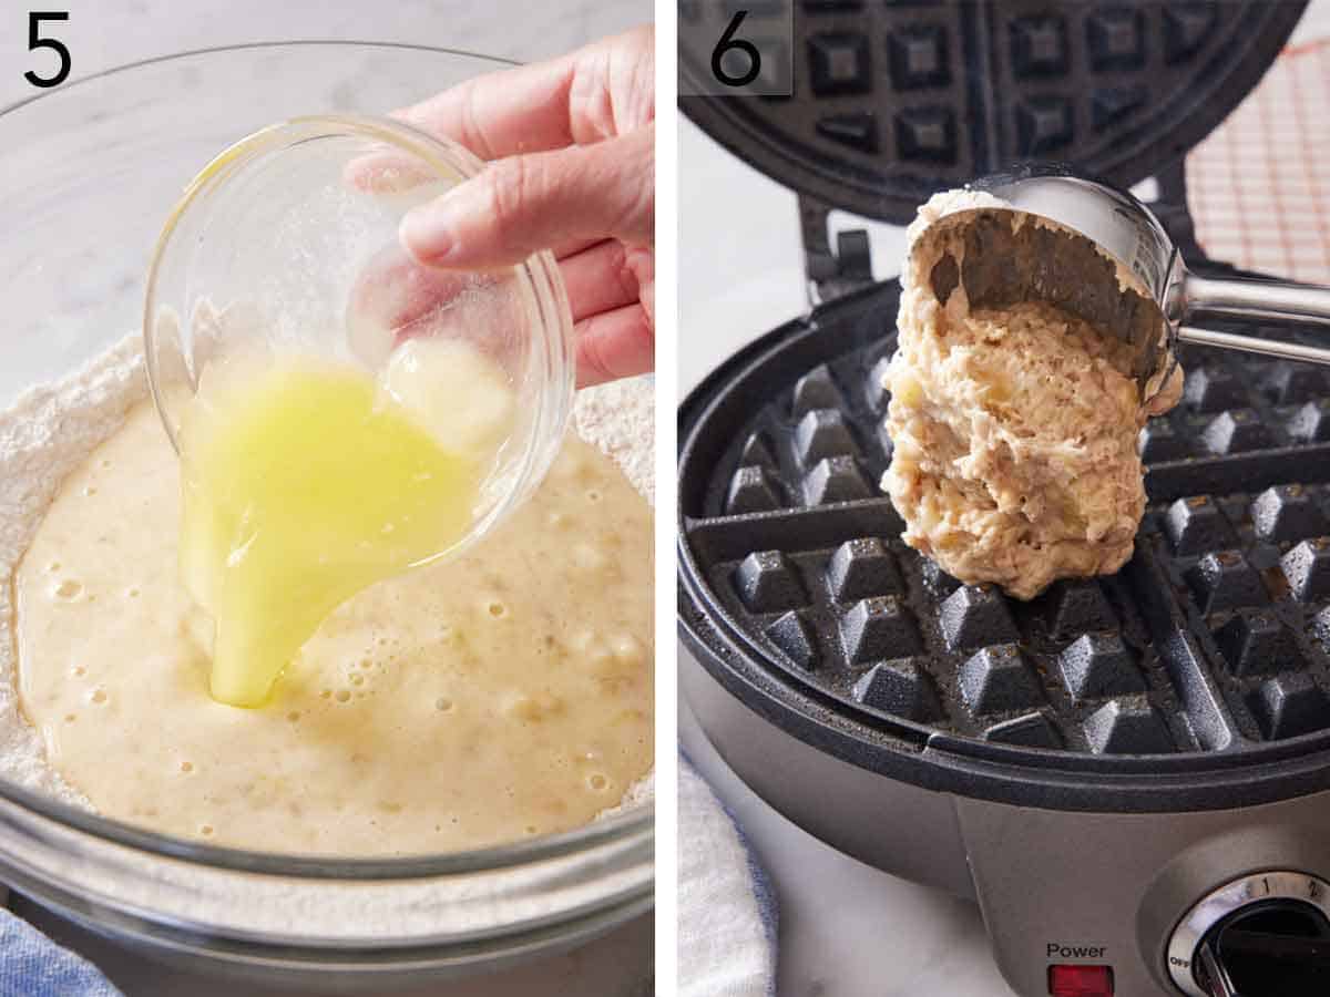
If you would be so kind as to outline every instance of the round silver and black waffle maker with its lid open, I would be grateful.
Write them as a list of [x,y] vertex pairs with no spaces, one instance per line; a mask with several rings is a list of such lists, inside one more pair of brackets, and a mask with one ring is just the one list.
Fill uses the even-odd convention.
[[817,304],[681,405],[682,691],[789,819],[978,901],[1023,997],[1330,993],[1330,372],[1184,351],[1129,564],[1028,604],[963,586],[876,488],[898,286],[826,215],[899,225],[1057,158],[1154,175],[1188,263],[1232,274],[1180,157],[1301,12],[810,0],[793,97],[681,101],[798,191]]

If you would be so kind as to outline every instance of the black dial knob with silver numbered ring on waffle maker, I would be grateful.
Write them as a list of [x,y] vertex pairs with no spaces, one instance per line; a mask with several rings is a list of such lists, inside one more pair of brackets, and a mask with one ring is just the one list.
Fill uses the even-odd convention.
[[1178,923],[1173,982],[1192,997],[1302,997],[1330,978],[1330,884],[1260,872],[1220,887]]

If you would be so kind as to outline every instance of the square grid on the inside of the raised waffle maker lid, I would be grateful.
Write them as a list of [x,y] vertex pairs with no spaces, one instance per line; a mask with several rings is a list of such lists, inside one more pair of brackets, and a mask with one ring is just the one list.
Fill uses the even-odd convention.
[[1190,117],[1214,60],[1260,19],[1236,3],[771,0],[750,5],[746,29],[765,37],[791,3],[793,94],[739,110],[782,154],[837,174],[842,194],[898,197],[902,221],[932,191],[1024,158],[1120,167],[1161,122]]

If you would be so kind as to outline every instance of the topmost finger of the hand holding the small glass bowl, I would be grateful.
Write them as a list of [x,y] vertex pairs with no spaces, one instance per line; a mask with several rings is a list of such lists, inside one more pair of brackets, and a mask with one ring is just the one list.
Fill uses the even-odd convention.
[[483,160],[597,142],[648,124],[654,39],[638,28],[548,62],[489,73],[395,114]]

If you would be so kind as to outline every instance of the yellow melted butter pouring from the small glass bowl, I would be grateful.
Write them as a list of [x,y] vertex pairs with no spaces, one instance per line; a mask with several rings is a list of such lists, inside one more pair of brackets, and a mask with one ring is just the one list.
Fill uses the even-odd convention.
[[[483,364],[458,351],[450,362]],[[420,368],[399,367],[400,379],[428,382]],[[501,407],[507,392],[493,393]],[[444,449],[454,412],[466,425],[451,405],[427,427],[351,367],[205,375],[180,435],[181,572],[217,623],[214,698],[261,705],[339,604],[463,537],[488,467],[476,445]]]

